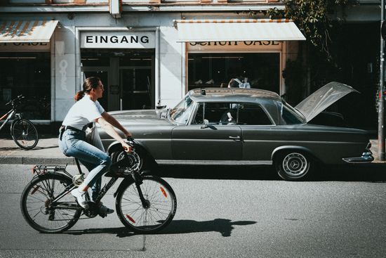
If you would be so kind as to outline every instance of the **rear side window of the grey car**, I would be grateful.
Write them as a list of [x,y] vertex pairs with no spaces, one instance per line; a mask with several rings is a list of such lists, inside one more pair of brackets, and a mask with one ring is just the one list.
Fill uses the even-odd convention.
[[241,103],[239,105],[239,124],[269,125],[271,120],[258,104]]

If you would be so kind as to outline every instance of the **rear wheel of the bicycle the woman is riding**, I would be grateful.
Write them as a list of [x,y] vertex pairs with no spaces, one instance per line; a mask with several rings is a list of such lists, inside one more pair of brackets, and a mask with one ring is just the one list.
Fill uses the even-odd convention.
[[58,233],[74,226],[81,216],[76,199],[67,194],[54,205],[51,203],[71,185],[72,179],[61,174],[45,174],[33,179],[20,200],[22,215],[29,226],[43,233]]

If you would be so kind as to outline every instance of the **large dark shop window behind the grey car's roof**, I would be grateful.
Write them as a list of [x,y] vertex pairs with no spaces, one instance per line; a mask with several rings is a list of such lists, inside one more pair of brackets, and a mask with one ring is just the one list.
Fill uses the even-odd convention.
[[253,89],[280,92],[279,53],[189,53],[188,89],[227,87],[248,78]]

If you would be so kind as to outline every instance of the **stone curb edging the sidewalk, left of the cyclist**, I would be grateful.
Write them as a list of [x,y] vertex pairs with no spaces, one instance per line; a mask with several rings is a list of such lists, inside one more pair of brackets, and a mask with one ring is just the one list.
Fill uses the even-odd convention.
[[75,165],[73,157],[22,157],[22,156],[1,156],[0,164],[18,165]]

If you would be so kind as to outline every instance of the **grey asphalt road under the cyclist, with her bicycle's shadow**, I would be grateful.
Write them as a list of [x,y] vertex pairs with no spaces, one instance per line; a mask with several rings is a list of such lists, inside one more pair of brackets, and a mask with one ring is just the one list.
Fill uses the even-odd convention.
[[1,258],[386,256],[381,165],[324,168],[305,182],[281,181],[271,169],[166,167],[177,213],[147,236],[126,231],[117,214],[82,219],[65,233],[34,231],[20,212],[31,167],[0,166]]

